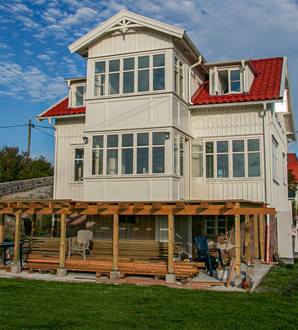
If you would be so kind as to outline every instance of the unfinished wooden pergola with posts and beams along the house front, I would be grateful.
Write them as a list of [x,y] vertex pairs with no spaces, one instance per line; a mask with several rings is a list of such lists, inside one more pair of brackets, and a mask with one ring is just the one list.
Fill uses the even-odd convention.
[[[60,267],[65,266],[66,216],[67,215],[113,215],[113,271],[118,270],[118,228],[119,215],[165,215],[168,216],[168,273],[173,273],[174,265],[174,216],[225,215],[235,216],[236,275],[240,275],[240,216],[245,216],[247,260],[250,261],[249,216],[254,216],[255,230],[258,216],[275,214],[274,208],[264,207],[264,203],[245,200],[228,201],[177,201],[177,202],[82,202],[73,200],[1,200],[0,201],[0,242],[4,238],[4,215],[15,214],[14,264],[19,259],[20,224],[22,214],[32,214],[34,228],[35,215],[55,214],[61,217]],[[260,226],[260,237],[263,236]],[[255,240],[258,235],[255,235]],[[261,259],[264,259],[264,240],[260,241]],[[259,244],[255,241],[256,255]]]

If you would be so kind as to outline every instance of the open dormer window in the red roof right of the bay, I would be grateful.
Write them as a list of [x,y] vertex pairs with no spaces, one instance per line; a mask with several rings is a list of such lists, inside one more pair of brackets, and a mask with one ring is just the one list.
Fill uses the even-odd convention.
[[218,70],[218,94],[241,93],[240,69]]

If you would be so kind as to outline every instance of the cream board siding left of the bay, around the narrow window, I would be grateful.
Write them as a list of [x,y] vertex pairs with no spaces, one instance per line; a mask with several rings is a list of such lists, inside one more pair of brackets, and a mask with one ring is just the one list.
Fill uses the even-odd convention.
[[84,147],[82,142],[85,117],[56,119],[58,150],[56,155],[56,196],[55,198],[82,200],[82,182],[73,183],[74,145]]

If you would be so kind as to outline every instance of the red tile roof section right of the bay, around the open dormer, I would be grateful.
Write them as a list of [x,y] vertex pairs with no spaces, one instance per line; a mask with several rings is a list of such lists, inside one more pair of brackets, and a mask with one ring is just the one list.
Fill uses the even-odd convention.
[[283,57],[274,57],[252,60],[257,76],[254,77],[246,94],[210,96],[209,81],[206,81],[198,88],[191,101],[194,105],[207,105],[279,99],[283,59]]

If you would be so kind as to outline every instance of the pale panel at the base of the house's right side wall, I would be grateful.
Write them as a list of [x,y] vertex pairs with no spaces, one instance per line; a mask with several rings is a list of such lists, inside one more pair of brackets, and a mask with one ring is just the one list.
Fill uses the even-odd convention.
[[293,258],[291,212],[277,212],[278,254],[281,258]]

